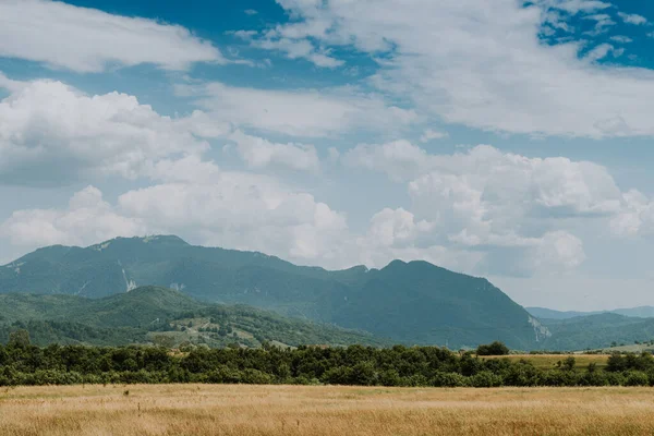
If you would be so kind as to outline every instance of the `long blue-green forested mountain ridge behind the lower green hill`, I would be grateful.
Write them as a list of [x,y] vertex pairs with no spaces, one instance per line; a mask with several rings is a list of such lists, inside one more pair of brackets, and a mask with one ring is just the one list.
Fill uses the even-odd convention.
[[119,238],[86,249],[50,246],[0,267],[0,293],[102,298],[137,286],[247,304],[403,343],[534,349],[548,332],[487,280],[425,262],[328,271],[262,253],[193,246],[177,237]]

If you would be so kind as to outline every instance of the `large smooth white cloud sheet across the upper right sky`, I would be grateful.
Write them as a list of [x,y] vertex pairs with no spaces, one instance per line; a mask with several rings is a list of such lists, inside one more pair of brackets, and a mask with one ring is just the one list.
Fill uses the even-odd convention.
[[[558,3],[570,13],[608,8]],[[654,135],[646,116],[654,110],[654,72],[596,65],[579,58],[580,43],[543,44],[544,7],[513,0],[280,4],[295,20],[278,34],[383,53],[371,83],[445,122],[536,135]],[[608,14],[593,19],[601,29],[613,23]]]

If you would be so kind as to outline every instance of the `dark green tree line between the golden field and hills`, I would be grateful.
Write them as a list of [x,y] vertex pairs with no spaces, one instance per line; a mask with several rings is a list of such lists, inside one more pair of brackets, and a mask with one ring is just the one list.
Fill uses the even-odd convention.
[[420,387],[654,386],[651,354],[611,355],[605,370],[576,366],[573,356],[553,368],[526,360],[480,359],[438,347],[259,349],[198,347],[45,348],[16,332],[0,346],[0,386],[73,384],[302,384]]

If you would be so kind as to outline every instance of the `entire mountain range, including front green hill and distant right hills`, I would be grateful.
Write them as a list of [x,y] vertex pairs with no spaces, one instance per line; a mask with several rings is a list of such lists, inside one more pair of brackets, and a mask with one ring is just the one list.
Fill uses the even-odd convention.
[[172,235],[48,246],[0,267],[0,341],[23,326],[37,343],[579,350],[649,342],[653,314],[525,310],[484,278],[426,262],[334,271]]

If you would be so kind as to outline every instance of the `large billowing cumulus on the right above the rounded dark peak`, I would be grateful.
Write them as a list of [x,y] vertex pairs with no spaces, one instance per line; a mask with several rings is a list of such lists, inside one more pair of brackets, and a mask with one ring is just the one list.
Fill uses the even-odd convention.
[[[414,250],[476,253],[475,270],[483,274],[573,269],[585,253],[569,220],[617,219],[629,203],[604,167],[562,157],[528,158],[491,146],[432,155],[399,141],[359,145],[342,161],[407,183],[411,219],[400,216],[429,223],[427,232],[408,233]],[[642,214],[642,206],[633,208]],[[634,221],[632,215],[622,222]]]

